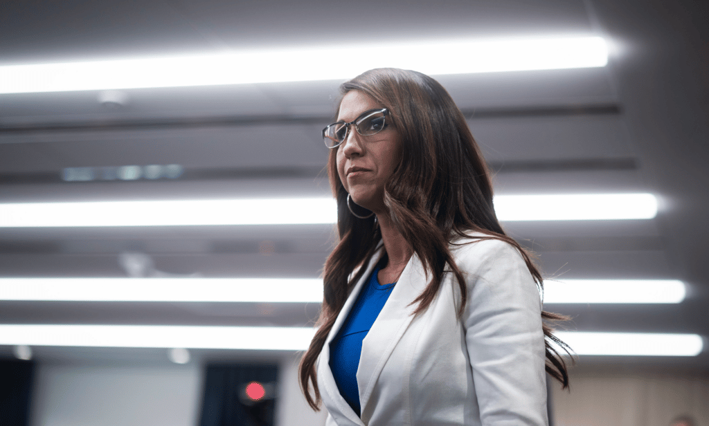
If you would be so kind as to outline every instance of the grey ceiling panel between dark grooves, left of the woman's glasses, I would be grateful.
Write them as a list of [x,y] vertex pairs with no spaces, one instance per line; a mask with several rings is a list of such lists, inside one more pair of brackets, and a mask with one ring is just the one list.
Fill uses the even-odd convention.
[[[322,137],[297,125],[250,125],[144,132],[65,135],[65,142],[0,144],[6,172],[58,171],[64,167],[181,164],[220,168],[322,166]],[[322,145],[322,146],[321,146]]]

